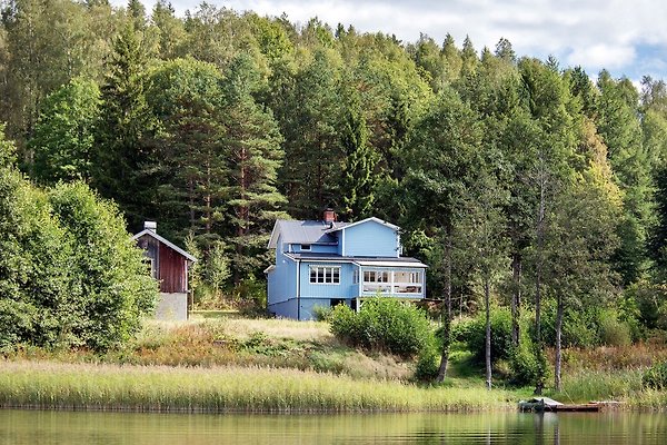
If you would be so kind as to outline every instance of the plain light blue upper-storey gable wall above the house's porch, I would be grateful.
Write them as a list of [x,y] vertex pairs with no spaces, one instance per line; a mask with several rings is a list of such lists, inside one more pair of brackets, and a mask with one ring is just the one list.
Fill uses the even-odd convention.
[[398,235],[391,227],[377,221],[367,221],[344,230],[344,243],[339,243],[338,255],[351,257],[389,257],[398,258]]

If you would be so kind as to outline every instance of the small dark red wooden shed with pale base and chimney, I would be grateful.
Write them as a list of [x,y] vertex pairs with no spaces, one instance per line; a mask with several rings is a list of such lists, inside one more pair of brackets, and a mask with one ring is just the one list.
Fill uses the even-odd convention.
[[160,281],[156,316],[162,319],[188,317],[188,268],[197,259],[157,233],[157,222],[146,221],[132,239],[146,251],[151,275]]

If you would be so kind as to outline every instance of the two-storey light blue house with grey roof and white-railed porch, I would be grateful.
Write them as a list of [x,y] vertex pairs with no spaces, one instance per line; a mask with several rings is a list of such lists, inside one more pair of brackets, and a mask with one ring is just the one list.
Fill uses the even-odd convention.
[[268,278],[268,308],[280,316],[312,319],[316,306],[382,295],[406,300],[426,296],[426,265],[401,257],[399,227],[378,218],[338,222],[332,210],[321,221],[277,220],[269,240],[276,265]]

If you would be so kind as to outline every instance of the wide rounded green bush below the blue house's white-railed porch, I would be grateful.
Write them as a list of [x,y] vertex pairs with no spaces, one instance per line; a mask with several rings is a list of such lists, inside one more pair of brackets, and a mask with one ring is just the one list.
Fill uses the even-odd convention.
[[331,313],[331,333],[342,342],[411,357],[431,342],[425,314],[410,304],[390,298],[364,301],[359,313],[338,305]]

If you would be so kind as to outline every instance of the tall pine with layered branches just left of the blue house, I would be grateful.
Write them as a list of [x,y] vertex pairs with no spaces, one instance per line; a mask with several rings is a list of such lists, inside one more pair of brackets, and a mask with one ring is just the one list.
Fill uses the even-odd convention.
[[256,102],[259,72],[249,56],[238,56],[225,73],[222,139],[227,185],[228,239],[235,284],[268,264],[266,244],[276,219],[285,217],[285,197],[276,187],[283,158],[282,137],[270,111]]

